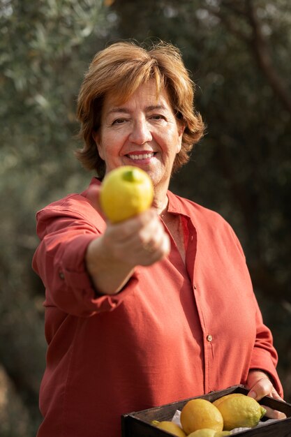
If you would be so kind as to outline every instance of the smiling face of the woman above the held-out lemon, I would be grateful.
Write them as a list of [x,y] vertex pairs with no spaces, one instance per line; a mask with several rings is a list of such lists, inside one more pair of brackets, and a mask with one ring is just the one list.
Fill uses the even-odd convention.
[[156,84],[150,80],[122,104],[114,95],[105,98],[101,124],[94,140],[106,172],[121,165],[145,170],[154,186],[166,187],[172,165],[181,150],[184,126],[174,116],[164,89],[156,96]]

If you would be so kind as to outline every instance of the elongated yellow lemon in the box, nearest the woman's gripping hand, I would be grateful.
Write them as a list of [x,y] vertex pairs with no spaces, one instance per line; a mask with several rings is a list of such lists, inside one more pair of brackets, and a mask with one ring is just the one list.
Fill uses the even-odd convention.
[[227,431],[239,427],[255,427],[266,413],[260,403],[245,394],[227,396],[217,408],[223,416],[223,429]]

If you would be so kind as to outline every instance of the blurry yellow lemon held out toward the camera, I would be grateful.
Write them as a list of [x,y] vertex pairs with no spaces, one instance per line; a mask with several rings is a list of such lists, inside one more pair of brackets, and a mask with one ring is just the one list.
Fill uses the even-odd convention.
[[131,165],[107,173],[100,191],[100,205],[105,216],[118,223],[151,206],[154,187],[144,170]]

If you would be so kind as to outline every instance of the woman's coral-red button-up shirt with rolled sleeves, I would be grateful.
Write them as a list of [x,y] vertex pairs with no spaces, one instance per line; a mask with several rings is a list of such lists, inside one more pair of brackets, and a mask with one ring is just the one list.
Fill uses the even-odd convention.
[[[93,179],[92,184],[99,184]],[[37,214],[33,269],[46,288],[47,366],[38,437],[120,437],[121,414],[274,378],[277,355],[262,323],[244,253],[223,218],[168,191],[186,235],[186,264],[170,255],[137,267],[124,290],[96,297],[84,265],[105,230],[86,197]]]

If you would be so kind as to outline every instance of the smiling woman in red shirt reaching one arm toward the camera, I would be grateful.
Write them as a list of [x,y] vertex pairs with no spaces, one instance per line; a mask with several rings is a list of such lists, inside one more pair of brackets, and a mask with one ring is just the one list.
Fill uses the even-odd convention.
[[[38,437],[119,437],[124,413],[236,384],[255,399],[281,399],[237,237],[221,216],[168,191],[204,129],[179,51],[107,47],[77,113],[77,156],[99,179],[37,215],[33,268],[46,288],[48,343]],[[112,225],[98,190],[121,165],[148,173],[154,203]]]

